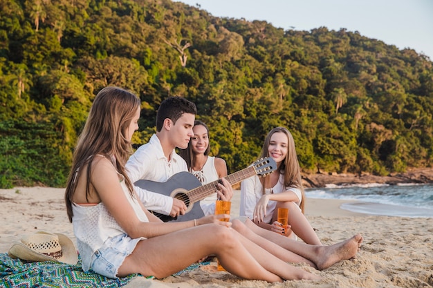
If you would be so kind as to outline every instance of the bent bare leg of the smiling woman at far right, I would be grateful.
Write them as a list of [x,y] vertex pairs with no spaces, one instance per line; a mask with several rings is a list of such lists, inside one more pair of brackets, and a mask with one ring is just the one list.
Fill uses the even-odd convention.
[[[288,224],[295,234],[307,244],[322,245],[310,222],[302,213],[295,202],[278,202],[278,207],[288,208]],[[277,208],[275,209],[272,222],[277,220]]]

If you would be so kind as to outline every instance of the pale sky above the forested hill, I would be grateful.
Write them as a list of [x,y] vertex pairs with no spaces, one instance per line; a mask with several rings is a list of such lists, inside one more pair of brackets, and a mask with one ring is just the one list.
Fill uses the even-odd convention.
[[215,17],[265,20],[284,30],[358,31],[433,61],[433,0],[181,0]]

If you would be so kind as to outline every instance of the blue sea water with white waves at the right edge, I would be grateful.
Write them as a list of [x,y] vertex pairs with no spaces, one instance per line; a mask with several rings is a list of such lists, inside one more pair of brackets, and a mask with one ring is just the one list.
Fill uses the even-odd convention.
[[307,198],[356,200],[340,207],[358,213],[433,218],[432,184],[353,184],[306,189]]

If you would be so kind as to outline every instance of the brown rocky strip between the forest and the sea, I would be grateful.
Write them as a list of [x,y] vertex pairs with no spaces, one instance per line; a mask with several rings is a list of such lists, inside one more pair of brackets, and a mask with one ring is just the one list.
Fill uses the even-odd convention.
[[337,174],[337,173],[319,173],[319,174],[302,174],[302,180],[305,187],[324,187],[326,184],[399,184],[399,183],[433,183],[432,168],[410,169],[405,173],[391,173],[387,176],[377,176],[369,174]]

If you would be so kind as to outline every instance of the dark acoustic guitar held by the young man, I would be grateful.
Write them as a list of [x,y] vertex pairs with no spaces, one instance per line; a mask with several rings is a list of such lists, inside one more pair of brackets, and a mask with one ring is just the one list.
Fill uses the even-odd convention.
[[[237,184],[242,180],[245,180],[254,175],[264,177],[270,173],[273,173],[277,169],[277,163],[272,157],[264,157],[253,164],[248,166],[246,169],[237,171],[230,175],[225,176],[230,185]],[[194,205],[195,202],[199,202],[204,198],[216,193],[216,187],[221,180],[216,180],[208,184],[202,185],[201,182],[189,172],[179,172],[174,174],[166,182],[156,182],[150,180],[138,180],[134,184],[147,191],[160,193],[172,198],[182,200],[187,210],[184,215],[178,215],[173,218],[169,215],[163,215],[157,212],[152,212],[158,216],[164,222],[168,221],[187,221],[193,219],[199,219],[205,214],[199,204]]]

